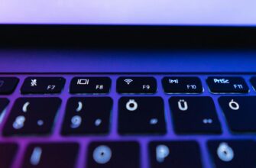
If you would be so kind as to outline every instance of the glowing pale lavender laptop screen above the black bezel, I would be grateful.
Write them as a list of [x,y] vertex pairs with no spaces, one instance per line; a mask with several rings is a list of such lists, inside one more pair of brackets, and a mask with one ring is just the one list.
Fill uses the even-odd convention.
[[256,25],[254,0],[1,0],[1,24]]

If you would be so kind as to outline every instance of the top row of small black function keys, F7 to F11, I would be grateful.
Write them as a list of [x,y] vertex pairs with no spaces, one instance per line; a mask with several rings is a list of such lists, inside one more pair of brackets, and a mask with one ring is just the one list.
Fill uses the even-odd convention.
[[[0,77],[0,95],[14,92],[18,78]],[[251,78],[256,88],[256,77]],[[21,86],[22,94],[56,94],[63,90],[66,80],[63,77],[28,77]],[[212,93],[247,93],[248,85],[241,77],[212,76],[206,79]],[[70,83],[72,94],[106,94],[110,92],[112,81],[109,77],[74,77]],[[164,77],[162,86],[166,93],[202,93],[202,82],[198,77]],[[128,77],[117,79],[118,93],[155,93],[157,80],[154,77]]]

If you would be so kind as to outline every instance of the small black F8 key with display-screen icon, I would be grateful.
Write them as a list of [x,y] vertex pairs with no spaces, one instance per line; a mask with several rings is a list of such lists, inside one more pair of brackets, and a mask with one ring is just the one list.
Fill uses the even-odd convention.
[[75,77],[70,84],[70,93],[109,93],[109,77]]

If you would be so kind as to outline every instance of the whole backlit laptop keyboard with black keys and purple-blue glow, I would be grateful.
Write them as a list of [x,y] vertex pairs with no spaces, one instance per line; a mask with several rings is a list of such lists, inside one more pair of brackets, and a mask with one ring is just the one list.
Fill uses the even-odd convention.
[[256,167],[251,74],[0,76],[0,167]]

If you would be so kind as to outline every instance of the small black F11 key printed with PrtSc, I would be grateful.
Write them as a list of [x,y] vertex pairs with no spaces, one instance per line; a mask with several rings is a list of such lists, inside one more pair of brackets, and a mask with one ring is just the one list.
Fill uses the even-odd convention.
[[209,77],[206,80],[213,93],[248,93],[249,89],[241,77]]

